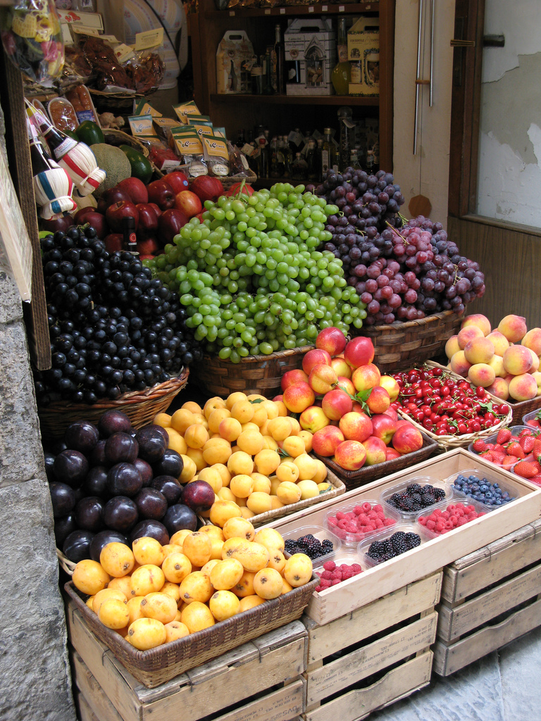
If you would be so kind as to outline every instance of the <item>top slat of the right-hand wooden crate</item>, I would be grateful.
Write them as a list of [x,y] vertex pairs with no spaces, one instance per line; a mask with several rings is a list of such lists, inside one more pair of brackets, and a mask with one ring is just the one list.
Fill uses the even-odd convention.
[[539,560],[541,520],[522,526],[445,567],[441,598],[450,604],[464,600]]

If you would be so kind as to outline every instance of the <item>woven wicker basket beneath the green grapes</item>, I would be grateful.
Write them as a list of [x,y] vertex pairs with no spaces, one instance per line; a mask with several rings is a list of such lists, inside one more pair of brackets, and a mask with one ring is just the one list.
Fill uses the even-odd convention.
[[270,355],[248,355],[240,363],[205,355],[201,363],[192,367],[191,380],[214,396],[226,398],[230,393],[242,391],[272,398],[281,393],[283,373],[301,368],[304,353],[312,348],[313,345],[304,345]]

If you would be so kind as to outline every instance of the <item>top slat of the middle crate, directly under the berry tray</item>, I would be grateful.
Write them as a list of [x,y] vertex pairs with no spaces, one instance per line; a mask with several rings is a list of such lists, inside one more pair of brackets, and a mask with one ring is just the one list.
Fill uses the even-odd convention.
[[308,668],[318,660],[431,609],[439,601],[441,572],[399,588],[383,598],[362,606],[320,626],[307,616]]

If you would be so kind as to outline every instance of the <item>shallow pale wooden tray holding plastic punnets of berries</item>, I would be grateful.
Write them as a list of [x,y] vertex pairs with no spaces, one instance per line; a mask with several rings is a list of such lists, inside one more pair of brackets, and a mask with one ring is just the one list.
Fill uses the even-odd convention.
[[457,448],[360,489],[349,491],[322,508],[316,508],[309,513],[295,513],[269,524],[281,533],[294,531],[295,528],[307,524],[321,526],[328,510],[339,510],[341,506],[362,502],[364,498],[379,498],[382,491],[407,479],[418,475],[447,479],[455,472],[472,467],[490,473],[496,480],[504,481],[517,495],[517,499],[386,563],[363,570],[360,575],[353,576],[335,587],[313,593],[305,614],[317,623],[325,624],[516,531],[524,526],[524,523],[540,518],[541,490],[514,474],[498,469],[488,461],[479,457],[473,459],[467,451]]

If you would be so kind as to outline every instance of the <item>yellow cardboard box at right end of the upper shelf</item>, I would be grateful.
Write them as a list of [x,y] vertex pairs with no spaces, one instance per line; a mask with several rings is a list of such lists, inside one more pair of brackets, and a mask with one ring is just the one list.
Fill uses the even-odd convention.
[[348,60],[360,65],[360,82],[350,95],[379,95],[379,19],[360,17],[348,30]]

